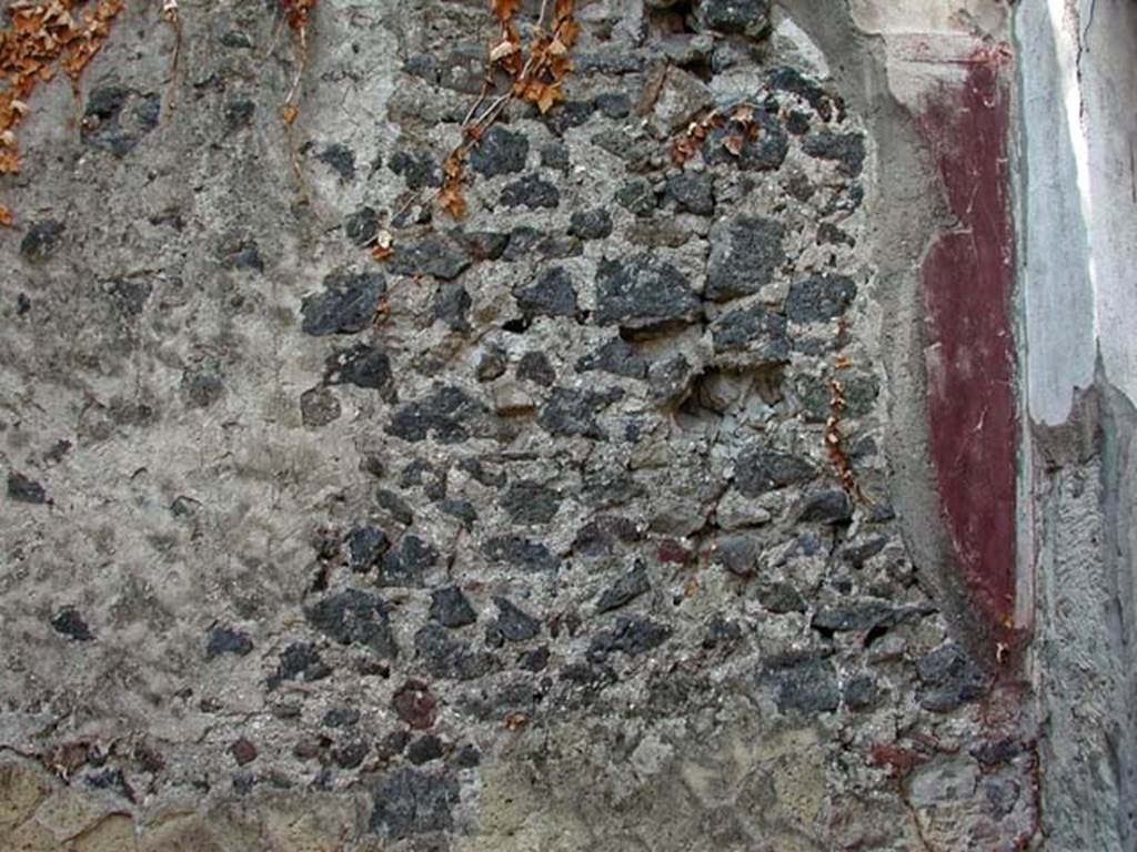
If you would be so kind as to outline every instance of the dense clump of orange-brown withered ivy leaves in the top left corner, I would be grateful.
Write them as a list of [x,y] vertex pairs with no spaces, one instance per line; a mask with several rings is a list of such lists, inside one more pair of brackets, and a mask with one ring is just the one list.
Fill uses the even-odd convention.
[[[82,12],[75,8],[84,5]],[[75,85],[123,6],[124,0],[16,0],[8,7],[10,23],[0,30],[0,175],[19,172],[16,130],[36,85],[55,77],[60,67]],[[11,210],[0,204],[0,225],[11,224]]]

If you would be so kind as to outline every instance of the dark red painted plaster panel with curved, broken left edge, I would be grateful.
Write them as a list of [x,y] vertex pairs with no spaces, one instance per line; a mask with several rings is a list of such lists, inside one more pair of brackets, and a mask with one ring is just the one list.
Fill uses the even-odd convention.
[[1016,426],[1005,57],[977,57],[921,119],[957,219],[929,252],[928,417],[941,509],[973,605],[1014,612]]

